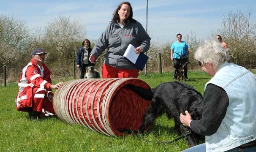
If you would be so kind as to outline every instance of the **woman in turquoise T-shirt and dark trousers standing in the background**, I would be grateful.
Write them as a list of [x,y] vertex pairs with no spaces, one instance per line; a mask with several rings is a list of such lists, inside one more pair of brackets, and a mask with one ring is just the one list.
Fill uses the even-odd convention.
[[[176,35],[177,41],[172,43],[171,46],[171,60],[174,61],[174,67],[180,68],[189,59],[188,44],[185,41],[181,41],[182,35],[179,33]],[[188,65],[184,67],[185,80],[188,80]],[[174,70],[173,79],[177,79],[177,75]]]

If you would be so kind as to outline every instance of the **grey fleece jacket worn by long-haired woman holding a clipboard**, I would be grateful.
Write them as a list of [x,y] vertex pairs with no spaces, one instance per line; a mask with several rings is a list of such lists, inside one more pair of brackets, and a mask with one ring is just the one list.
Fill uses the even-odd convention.
[[140,46],[144,52],[150,47],[150,37],[139,22],[128,23],[121,28],[118,23],[109,24],[93,47],[91,54],[97,59],[102,52],[105,54],[105,64],[115,68],[137,69],[123,54],[129,44]]

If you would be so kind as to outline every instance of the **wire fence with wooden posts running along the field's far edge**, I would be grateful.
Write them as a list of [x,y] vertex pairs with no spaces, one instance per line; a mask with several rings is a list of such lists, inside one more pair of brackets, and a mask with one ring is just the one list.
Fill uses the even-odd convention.
[[[247,68],[250,71],[256,71],[256,60],[248,60],[248,61],[230,61],[236,63],[237,65],[241,65]],[[75,62],[71,63],[69,67],[66,68],[50,68],[52,72],[52,81],[60,81],[60,80],[67,80],[67,79],[79,79],[80,77],[80,69],[75,67]],[[15,84],[18,82],[19,77],[21,75],[22,68],[21,67],[11,67],[11,66],[4,66],[4,72],[0,73],[0,85],[6,86],[6,84]],[[101,73],[102,65],[95,66],[96,71]],[[196,61],[191,62],[188,64],[188,71],[199,71],[201,68],[197,64]],[[161,65],[150,64],[147,63],[147,73],[166,73],[166,72],[173,72],[173,64],[172,62],[164,62]],[[140,74],[144,74],[144,71],[140,71]],[[6,83],[6,84],[5,84]]]

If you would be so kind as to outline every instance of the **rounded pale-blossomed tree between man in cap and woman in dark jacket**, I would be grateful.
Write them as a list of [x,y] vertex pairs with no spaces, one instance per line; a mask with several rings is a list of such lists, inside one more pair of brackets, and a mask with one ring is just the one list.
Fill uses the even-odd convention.
[[45,37],[42,40],[51,54],[49,60],[59,62],[61,66],[70,63],[75,59],[77,42],[82,43],[85,35],[86,28],[78,21],[71,21],[65,16],[54,19],[45,28]]

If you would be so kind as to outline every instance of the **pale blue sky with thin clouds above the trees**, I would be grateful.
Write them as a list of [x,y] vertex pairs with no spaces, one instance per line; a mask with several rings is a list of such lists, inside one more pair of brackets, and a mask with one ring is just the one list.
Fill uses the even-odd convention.
[[[123,0],[1,0],[0,14],[14,15],[31,29],[44,28],[58,16],[69,16],[96,40]],[[133,18],[146,29],[147,0],[130,0]],[[241,10],[256,16],[256,0],[148,0],[147,32],[154,41],[175,40],[176,34],[207,38],[221,27],[224,16]]]

